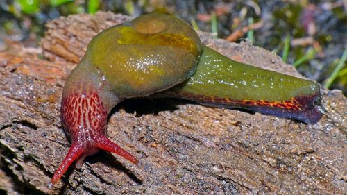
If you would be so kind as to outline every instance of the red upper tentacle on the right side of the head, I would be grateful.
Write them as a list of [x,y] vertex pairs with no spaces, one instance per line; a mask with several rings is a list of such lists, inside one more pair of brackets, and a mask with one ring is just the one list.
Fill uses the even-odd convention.
[[101,135],[96,140],[96,146],[105,151],[116,153],[126,160],[133,162],[133,164],[137,164],[139,161],[133,155],[122,149],[120,146],[112,142],[110,139],[105,137],[105,135]]

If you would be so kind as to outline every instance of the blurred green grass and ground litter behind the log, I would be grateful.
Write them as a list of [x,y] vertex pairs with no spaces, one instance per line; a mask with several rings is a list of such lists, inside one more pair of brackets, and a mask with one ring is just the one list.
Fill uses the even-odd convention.
[[0,51],[8,48],[6,40],[36,46],[51,19],[98,10],[178,15],[216,37],[269,49],[307,78],[347,94],[346,0],[5,0],[0,1]]

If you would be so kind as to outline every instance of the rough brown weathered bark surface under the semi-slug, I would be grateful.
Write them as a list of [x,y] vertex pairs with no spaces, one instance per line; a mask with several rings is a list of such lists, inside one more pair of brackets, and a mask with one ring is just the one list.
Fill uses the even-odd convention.
[[[108,137],[139,167],[99,152],[49,191],[69,149],[59,111],[65,78],[96,33],[129,19],[61,17],[46,25],[42,50],[0,52],[0,194],[346,194],[339,90],[323,90],[330,117],[314,125],[177,99],[125,101],[110,115]],[[199,35],[234,60],[300,76],[274,53]]]

